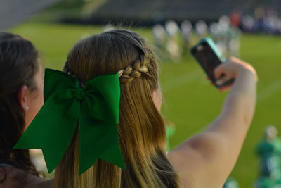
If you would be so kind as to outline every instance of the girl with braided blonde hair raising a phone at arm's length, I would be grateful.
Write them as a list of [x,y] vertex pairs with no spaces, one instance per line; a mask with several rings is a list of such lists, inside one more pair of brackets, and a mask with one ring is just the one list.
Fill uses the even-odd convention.
[[[55,130],[50,130],[50,127],[46,128],[46,132],[50,130],[55,135],[58,127],[67,121],[64,134],[68,134],[65,133],[67,129],[72,130],[71,139],[62,147],[65,148],[65,151],[64,149],[53,151],[53,154],[58,156],[54,160],[56,162],[52,161],[51,164],[48,162],[51,160],[47,160],[53,157],[47,152],[51,152],[52,147],[56,148],[55,144],[49,147],[49,142],[55,143],[53,142],[55,136],[48,135],[52,139],[48,140],[48,144],[43,144],[44,147],[42,146],[43,151],[46,152],[44,153],[46,163],[51,164],[50,169],[53,170],[58,164],[55,169],[53,187],[217,188],[223,186],[237,161],[254,114],[256,72],[251,65],[237,58],[230,58],[228,63],[216,68],[217,78],[222,74],[235,78],[221,114],[209,125],[207,130],[191,137],[168,154],[165,150],[165,125],[160,113],[162,94],[157,61],[155,54],[143,37],[129,30],[111,30],[83,39],[70,50],[64,70],[68,75],[49,71],[51,73],[48,79],[52,80],[55,74],[61,77],[56,82],[52,81],[56,85],[55,88],[61,87],[59,84],[62,82],[65,84],[69,82],[63,81],[66,79],[63,77],[72,80],[71,82],[74,84],[58,89],[54,92],[53,98],[51,94],[47,94],[49,98],[46,103],[54,100],[51,109],[55,118],[57,117],[55,116],[56,104],[58,106],[63,102],[67,104],[60,116],[64,116],[65,113],[68,113],[67,111],[74,111],[73,106],[78,106],[79,108],[75,107],[75,109],[79,110],[72,115],[65,115],[67,118],[55,125],[53,128]],[[106,114],[101,112],[111,100],[110,97],[114,97],[110,96],[112,92],[107,94],[104,94],[104,91],[100,92],[103,89],[114,88],[107,87],[113,81],[105,83],[103,80],[112,75],[119,77],[120,89],[119,112],[117,113],[119,120],[112,121],[112,124],[117,124],[117,144],[110,141],[109,144],[98,144],[97,146],[96,143],[101,141],[105,143],[112,139],[107,137],[109,135],[107,132],[111,132],[110,128],[106,127],[107,125],[101,126],[103,128],[91,127],[93,124],[111,122],[110,117],[114,116],[110,111],[106,111]],[[75,80],[78,80],[79,86]],[[48,82],[48,80],[45,81]],[[93,90],[94,87],[96,90]],[[64,90],[66,88],[68,88],[67,94]],[[98,92],[95,93],[95,91],[102,94],[97,94]],[[63,92],[65,92],[65,96],[63,96]],[[103,96],[100,101],[94,98],[98,95]],[[60,99],[60,97],[65,98]],[[70,98],[72,101],[67,102]],[[99,107],[89,107],[91,105]],[[77,112],[79,118],[75,118],[73,127],[70,125],[71,121],[67,119],[75,116]],[[89,118],[93,113],[96,114],[96,120]],[[58,115],[58,118],[60,116]],[[52,115],[49,117],[52,121]],[[40,123],[42,121],[38,120],[37,123],[34,123],[34,127]],[[53,123],[46,124],[48,124],[46,126],[51,126],[50,124]],[[90,124],[92,125],[90,126]],[[41,127],[44,126],[41,125]],[[96,129],[96,132],[85,131],[93,129]],[[114,126],[112,129],[115,129]],[[60,134],[61,137],[64,137],[64,134]],[[88,137],[88,141],[85,137]],[[41,139],[44,139],[43,134]],[[90,139],[95,141],[89,142]],[[63,140],[60,139],[57,143],[59,144]],[[89,143],[85,147],[86,142]],[[115,144],[117,147],[112,154],[108,154],[110,153],[109,148],[113,147],[110,144]],[[119,150],[122,153],[121,160],[119,160]],[[102,157],[96,157],[97,153],[100,153]],[[60,162],[58,163],[58,161]]]

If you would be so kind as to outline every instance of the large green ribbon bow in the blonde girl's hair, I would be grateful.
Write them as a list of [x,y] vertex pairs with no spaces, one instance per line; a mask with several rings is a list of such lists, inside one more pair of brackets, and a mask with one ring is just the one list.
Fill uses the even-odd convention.
[[46,69],[44,101],[14,149],[42,149],[51,173],[79,125],[79,175],[98,158],[125,169],[117,132],[120,103],[117,74],[100,75],[81,88],[75,77]]

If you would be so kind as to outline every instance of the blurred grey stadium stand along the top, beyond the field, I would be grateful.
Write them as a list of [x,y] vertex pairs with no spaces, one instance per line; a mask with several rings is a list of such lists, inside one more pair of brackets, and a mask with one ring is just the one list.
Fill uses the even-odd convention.
[[108,0],[91,15],[92,23],[131,20],[146,24],[161,23],[164,20],[206,20],[216,21],[221,15],[230,15],[234,9],[252,13],[256,6],[275,6],[281,10],[278,0]]

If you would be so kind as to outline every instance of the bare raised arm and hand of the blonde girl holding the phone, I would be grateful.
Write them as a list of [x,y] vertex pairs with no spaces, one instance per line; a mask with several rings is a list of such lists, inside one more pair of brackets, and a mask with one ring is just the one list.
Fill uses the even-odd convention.
[[218,118],[168,157],[184,187],[222,187],[237,161],[256,104],[256,71],[237,58],[218,66],[216,77],[235,78]]

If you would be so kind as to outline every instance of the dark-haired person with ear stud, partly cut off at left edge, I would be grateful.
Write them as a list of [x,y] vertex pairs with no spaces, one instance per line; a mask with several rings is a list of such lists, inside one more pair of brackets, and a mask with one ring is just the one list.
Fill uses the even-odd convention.
[[13,149],[43,103],[37,49],[19,35],[0,32],[0,187],[44,182],[28,149]]

